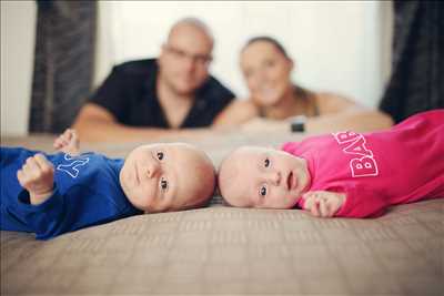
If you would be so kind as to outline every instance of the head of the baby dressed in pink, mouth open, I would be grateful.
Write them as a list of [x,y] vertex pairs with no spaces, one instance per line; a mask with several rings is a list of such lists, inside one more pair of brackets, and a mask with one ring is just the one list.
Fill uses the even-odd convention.
[[240,207],[292,208],[310,184],[304,159],[259,146],[234,150],[218,178],[223,198]]

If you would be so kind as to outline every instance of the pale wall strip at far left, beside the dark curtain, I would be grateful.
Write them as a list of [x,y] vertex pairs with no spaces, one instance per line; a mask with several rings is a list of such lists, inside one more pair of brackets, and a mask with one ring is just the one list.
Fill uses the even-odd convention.
[[34,1],[0,1],[1,135],[28,133],[36,35]]

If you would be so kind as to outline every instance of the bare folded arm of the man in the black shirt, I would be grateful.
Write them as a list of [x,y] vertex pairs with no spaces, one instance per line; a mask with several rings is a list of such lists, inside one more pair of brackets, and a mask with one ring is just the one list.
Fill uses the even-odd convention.
[[107,109],[94,103],[82,106],[72,129],[77,131],[81,141],[87,142],[148,141],[157,137],[208,133],[208,129],[170,130],[128,126],[119,123]]

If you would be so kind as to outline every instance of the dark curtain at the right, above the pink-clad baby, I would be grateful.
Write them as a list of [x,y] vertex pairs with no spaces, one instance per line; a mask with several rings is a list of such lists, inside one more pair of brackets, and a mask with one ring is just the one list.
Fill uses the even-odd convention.
[[392,76],[380,108],[395,122],[444,108],[443,2],[394,2]]

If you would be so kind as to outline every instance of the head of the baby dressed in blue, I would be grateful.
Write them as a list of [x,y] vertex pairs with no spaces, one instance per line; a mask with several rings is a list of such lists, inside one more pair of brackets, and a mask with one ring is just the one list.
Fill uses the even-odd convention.
[[185,143],[134,149],[119,178],[131,204],[147,213],[198,207],[212,196],[215,186],[211,160]]

